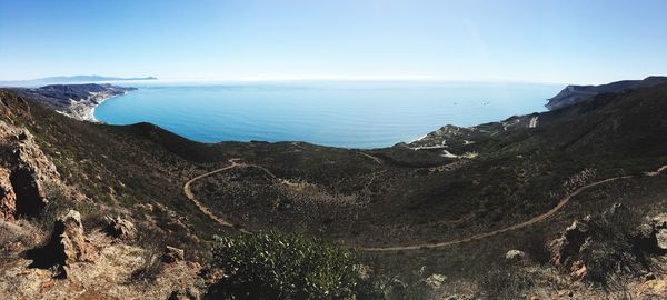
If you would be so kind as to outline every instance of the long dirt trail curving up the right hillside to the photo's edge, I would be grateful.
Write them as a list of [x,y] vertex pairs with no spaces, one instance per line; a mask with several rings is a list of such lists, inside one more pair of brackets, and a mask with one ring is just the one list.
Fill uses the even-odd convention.
[[[667,164],[661,166],[660,168],[658,168],[656,171],[650,171],[650,172],[645,172],[644,176],[646,177],[655,177],[660,174],[660,172],[667,170]],[[449,247],[449,246],[454,246],[454,244],[459,244],[459,243],[465,243],[465,242],[470,242],[470,241],[476,241],[476,240],[481,240],[481,239],[486,239],[488,237],[492,237],[499,233],[504,233],[504,232],[508,232],[508,231],[514,231],[514,230],[518,230],[518,229],[522,229],[529,226],[532,226],[535,223],[541,222],[544,220],[546,220],[547,218],[554,216],[556,212],[558,212],[560,209],[563,209],[563,207],[565,207],[565,204],[567,204],[567,202],[569,202],[569,200],[581,193],[583,191],[597,187],[599,184],[604,184],[607,182],[611,182],[611,181],[617,181],[620,179],[628,179],[628,178],[633,178],[635,176],[624,176],[624,177],[614,177],[614,178],[608,178],[605,180],[600,180],[600,181],[596,181],[589,184],[586,184],[584,187],[580,187],[578,189],[576,189],[575,191],[573,191],[571,193],[565,196],[563,199],[560,199],[560,201],[558,202],[558,204],[556,207],[554,207],[551,210],[539,214],[528,221],[525,222],[520,222],[510,227],[506,227],[502,229],[498,229],[498,230],[494,230],[494,231],[489,231],[489,232],[485,232],[485,233],[479,233],[479,234],[475,234],[465,239],[460,239],[460,240],[452,240],[452,241],[446,241],[446,242],[437,242],[437,243],[418,243],[418,244],[410,244],[410,246],[394,246],[394,247],[369,247],[369,248],[357,248],[357,250],[360,251],[402,251],[402,250],[419,250],[419,249],[436,249],[436,248],[444,248],[444,247]]]

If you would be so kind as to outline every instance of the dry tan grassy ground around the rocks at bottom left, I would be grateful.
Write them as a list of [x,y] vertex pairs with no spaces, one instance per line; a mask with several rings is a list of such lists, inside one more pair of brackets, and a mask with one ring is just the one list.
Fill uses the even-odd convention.
[[118,242],[101,231],[92,231],[86,239],[93,246],[94,260],[70,263],[66,280],[54,279],[48,268],[30,267],[31,260],[18,257],[3,261],[0,294],[49,300],[168,299],[175,290],[187,291],[187,287],[196,286],[200,267],[185,261],[167,264],[155,281],[131,281],[132,273],[142,267],[147,250]]

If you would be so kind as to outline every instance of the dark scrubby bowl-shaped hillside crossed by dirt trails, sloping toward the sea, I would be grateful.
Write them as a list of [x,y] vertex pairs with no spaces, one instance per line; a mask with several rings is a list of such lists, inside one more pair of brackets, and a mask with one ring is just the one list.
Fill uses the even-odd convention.
[[[72,98],[70,91],[60,92],[51,102]],[[3,132],[11,132],[2,140],[0,157],[7,163],[0,166],[10,178],[3,189],[14,194],[3,196],[3,222],[31,222],[43,214],[47,203],[64,202],[84,220],[121,216],[146,231],[155,230],[167,244],[183,248],[185,261],[192,263],[206,264],[213,234],[279,230],[354,249],[379,277],[399,280],[402,292],[424,290],[420,284],[430,279],[437,288],[428,283],[429,290],[459,298],[517,292],[541,299],[555,298],[560,290],[574,291],[577,298],[601,297],[618,290],[591,288],[581,283],[585,277],[575,278],[569,270],[551,272],[560,267],[549,263],[546,243],[575,219],[590,214],[587,222],[593,222],[590,218],[597,220],[614,203],[641,217],[667,211],[667,177],[645,176],[667,164],[665,84],[624,88],[561,109],[471,128],[446,126],[412,143],[364,151],[302,142],[198,143],[148,123],[78,121],[54,112],[56,104],[36,103],[44,102],[39,97],[26,90],[0,91],[0,121],[7,128]],[[30,138],[16,138],[23,136]],[[32,179],[17,181],[11,174],[21,171],[12,169],[10,158],[18,151],[13,149],[26,149],[21,144],[32,149],[26,156],[39,159],[21,162],[32,170],[23,177]],[[56,183],[38,183],[42,181]],[[587,184],[593,186],[583,189]],[[50,197],[53,186],[64,192]],[[56,200],[60,198],[64,200]],[[565,198],[568,201],[559,206]],[[8,204],[13,201],[19,208],[22,199],[38,203],[28,216]],[[517,227],[521,223],[527,226]],[[106,237],[89,239],[108,244],[100,249],[121,251]],[[123,251],[149,248],[128,247]],[[527,266],[511,264],[505,277],[485,276],[507,270],[502,257],[517,249],[531,258],[525,260]],[[660,268],[667,264],[660,252],[641,253],[644,267],[628,264],[644,268],[641,272],[615,282],[639,289],[648,282],[640,273],[665,279]],[[578,261],[588,263],[584,258]],[[21,260],[12,263],[19,268]],[[195,269],[182,273],[196,273]],[[188,277],[188,282],[197,278]],[[494,291],[498,286],[505,289]],[[395,299],[408,297],[391,287],[388,293]]]

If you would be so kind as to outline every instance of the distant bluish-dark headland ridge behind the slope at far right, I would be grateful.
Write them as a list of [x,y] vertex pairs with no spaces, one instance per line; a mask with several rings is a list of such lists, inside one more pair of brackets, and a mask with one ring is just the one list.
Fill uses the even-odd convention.
[[593,99],[600,93],[617,93],[627,89],[649,88],[663,83],[667,83],[667,77],[651,76],[644,80],[623,80],[600,86],[567,86],[549,99],[546,107],[555,110]]

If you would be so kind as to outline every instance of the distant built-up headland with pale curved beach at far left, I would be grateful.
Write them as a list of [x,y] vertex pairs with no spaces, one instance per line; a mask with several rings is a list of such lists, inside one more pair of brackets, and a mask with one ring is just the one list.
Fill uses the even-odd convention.
[[36,89],[12,88],[19,94],[40,102],[71,118],[96,121],[93,109],[102,101],[137,88],[112,84],[52,84]]

